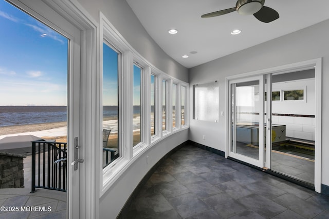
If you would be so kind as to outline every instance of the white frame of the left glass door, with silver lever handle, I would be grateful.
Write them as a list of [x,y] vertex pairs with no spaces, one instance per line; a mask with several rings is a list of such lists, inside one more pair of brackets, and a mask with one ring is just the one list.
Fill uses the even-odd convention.
[[[85,164],[85,136],[88,136],[81,124],[86,117],[86,101],[81,101],[85,88],[81,83],[85,81],[81,69],[81,30],[67,21],[56,10],[43,1],[10,2],[39,19],[45,25],[62,34],[68,39],[68,78],[67,78],[67,218],[85,218],[86,190],[81,182],[86,182]],[[58,6],[56,6],[58,7]],[[86,86],[85,86],[86,87]],[[81,137],[83,136],[83,137]]]

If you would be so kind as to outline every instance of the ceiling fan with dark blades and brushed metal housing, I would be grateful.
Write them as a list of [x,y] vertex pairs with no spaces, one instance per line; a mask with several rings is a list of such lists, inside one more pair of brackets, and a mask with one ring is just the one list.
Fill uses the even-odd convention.
[[237,11],[237,13],[243,15],[253,14],[255,18],[264,23],[269,23],[278,19],[279,13],[272,8],[264,6],[264,3],[265,0],[237,0],[234,8],[211,12],[204,14],[201,17],[215,17]]

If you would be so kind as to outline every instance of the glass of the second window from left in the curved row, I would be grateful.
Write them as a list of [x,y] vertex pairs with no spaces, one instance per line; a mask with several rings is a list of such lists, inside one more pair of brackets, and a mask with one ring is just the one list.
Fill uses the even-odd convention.
[[133,146],[138,145],[141,139],[141,78],[142,68],[134,64],[133,72]]

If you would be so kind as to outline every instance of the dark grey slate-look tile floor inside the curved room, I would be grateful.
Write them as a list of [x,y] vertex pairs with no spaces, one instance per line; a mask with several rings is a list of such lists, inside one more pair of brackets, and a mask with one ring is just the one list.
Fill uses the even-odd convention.
[[183,147],[158,167],[127,218],[329,218],[329,196],[203,149]]

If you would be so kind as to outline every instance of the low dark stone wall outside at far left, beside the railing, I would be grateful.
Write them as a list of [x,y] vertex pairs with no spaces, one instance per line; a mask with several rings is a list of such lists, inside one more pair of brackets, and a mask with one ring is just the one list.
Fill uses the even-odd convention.
[[25,155],[0,152],[0,188],[24,188]]

